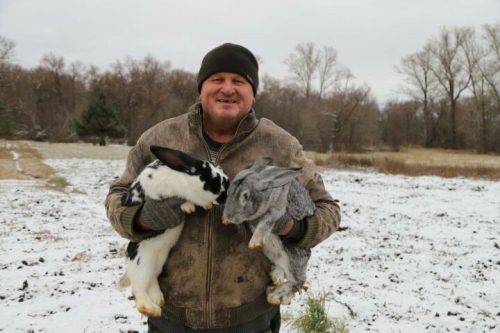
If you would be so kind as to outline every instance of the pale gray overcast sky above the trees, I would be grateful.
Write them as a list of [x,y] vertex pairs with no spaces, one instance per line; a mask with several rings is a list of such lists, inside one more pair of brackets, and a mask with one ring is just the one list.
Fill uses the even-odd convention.
[[44,54],[108,69],[150,54],[197,72],[210,49],[242,44],[260,74],[284,79],[299,43],[331,46],[380,102],[397,97],[394,66],[441,27],[500,23],[500,0],[0,0],[0,35],[26,68]]

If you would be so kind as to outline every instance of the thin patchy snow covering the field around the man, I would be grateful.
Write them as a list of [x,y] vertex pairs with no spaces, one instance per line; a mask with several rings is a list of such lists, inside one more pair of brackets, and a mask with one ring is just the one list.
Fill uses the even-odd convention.
[[[103,205],[124,162],[46,163],[66,191],[0,184],[0,332],[146,332],[116,287],[127,241]],[[330,316],[351,333],[500,332],[500,182],[322,174],[345,228],[309,265]]]

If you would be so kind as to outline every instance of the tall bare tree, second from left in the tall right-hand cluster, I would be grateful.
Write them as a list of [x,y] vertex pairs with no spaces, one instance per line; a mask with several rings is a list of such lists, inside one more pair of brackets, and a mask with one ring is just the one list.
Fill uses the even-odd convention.
[[457,101],[470,83],[470,76],[461,54],[461,47],[467,34],[467,29],[455,28],[450,31],[442,28],[438,38],[427,46],[435,57],[431,70],[448,98],[453,149],[457,148]]

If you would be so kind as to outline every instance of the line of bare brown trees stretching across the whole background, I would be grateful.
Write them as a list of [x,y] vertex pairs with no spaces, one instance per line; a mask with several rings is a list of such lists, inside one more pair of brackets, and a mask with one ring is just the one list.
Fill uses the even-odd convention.
[[[12,62],[14,51],[15,43],[0,36],[2,137],[80,140],[79,121],[105,96],[127,143],[134,144],[146,129],[186,112],[198,99],[197,73],[151,55],[102,71],[47,54],[26,69]],[[500,151],[500,24],[480,33],[442,28],[395,66],[402,98],[382,106],[368,85],[355,82],[333,47],[298,44],[284,64],[287,79],[261,74],[255,109],[307,150],[418,145]]]

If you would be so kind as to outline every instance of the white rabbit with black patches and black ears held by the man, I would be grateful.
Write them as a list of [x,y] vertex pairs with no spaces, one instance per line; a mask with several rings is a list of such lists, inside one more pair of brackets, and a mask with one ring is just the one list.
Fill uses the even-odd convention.
[[[143,203],[146,197],[154,200],[177,197],[186,200],[181,209],[189,214],[195,211],[195,206],[208,210],[212,205],[224,203],[229,178],[222,168],[178,150],[158,146],[150,149],[157,160],[146,166],[123,195],[124,206]],[[131,286],[137,310],[142,314],[161,315],[164,298],[158,275],[183,226],[184,221],[157,236],[128,244],[127,270],[119,286]]]

